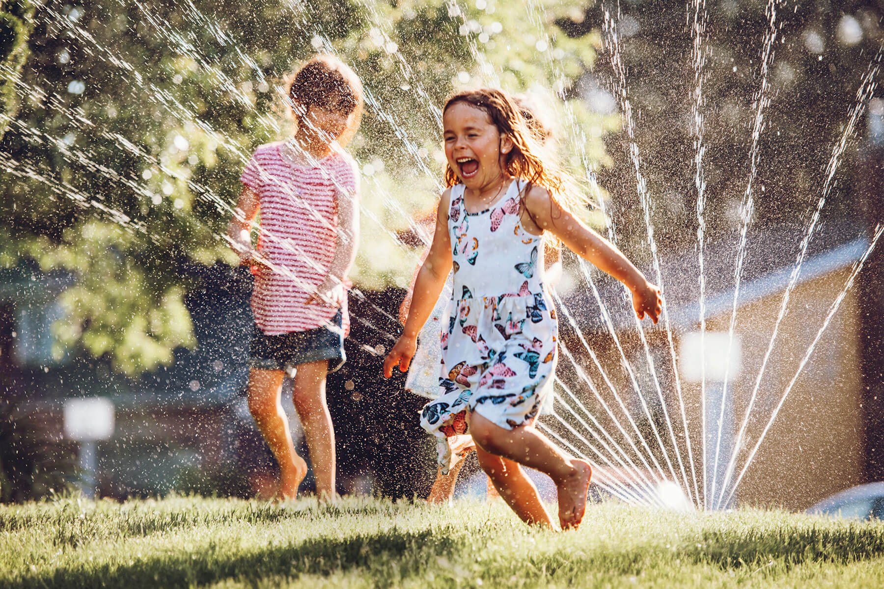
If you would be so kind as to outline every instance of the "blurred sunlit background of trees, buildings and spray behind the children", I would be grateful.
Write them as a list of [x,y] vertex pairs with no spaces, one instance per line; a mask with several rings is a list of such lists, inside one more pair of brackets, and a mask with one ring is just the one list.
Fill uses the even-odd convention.
[[354,328],[329,380],[340,492],[420,495],[434,474],[423,401],[380,361],[441,187],[439,109],[482,85],[533,105],[598,203],[586,221],[667,299],[639,327],[617,283],[565,257],[540,427],[597,467],[594,496],[804,509],[884,477],[879,4],[2,10],[3,501],[272,493],[224,234],[248,157],[291,132],[282,80],[316,52],[367,98]]

